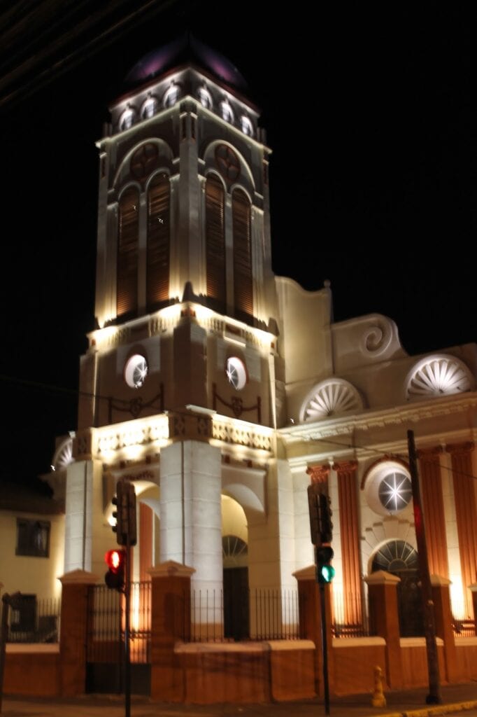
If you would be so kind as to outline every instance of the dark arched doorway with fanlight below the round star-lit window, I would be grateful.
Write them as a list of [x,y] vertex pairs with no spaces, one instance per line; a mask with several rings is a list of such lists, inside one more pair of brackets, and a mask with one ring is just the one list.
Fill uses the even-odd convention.
[[397,575],[397,610],[401,637],[422,637],[423,599],[419,584],[418,554],[403,540],[384,543],[372,559],[371,571],[385,570]]

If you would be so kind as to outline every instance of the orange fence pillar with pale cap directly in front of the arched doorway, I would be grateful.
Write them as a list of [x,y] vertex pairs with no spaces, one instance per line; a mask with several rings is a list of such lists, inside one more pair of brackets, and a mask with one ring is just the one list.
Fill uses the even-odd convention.
[[403,662],[401,657],[399,617],[397,613],[396,575],[378,570],[365,577],[370,609],[372,635],[386,641],[386,681],[393,690],[403,687]]

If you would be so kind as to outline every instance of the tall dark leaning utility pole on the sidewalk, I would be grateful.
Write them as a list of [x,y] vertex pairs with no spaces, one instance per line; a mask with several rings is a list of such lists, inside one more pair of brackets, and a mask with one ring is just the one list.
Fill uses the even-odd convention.
[[435,616],[433,589],[430,584],[428,547],[425,541],[424,516],[420,500],[418,473],[418,455],[415,450],[414,431],[408,431],[408,452],[411,486],[413,488],[415,537],[418,543],[420,584],[423,595],[425,647],[428,655],[429,694],[425,698],[428,705],[442,703],[437,643],[435,642]]

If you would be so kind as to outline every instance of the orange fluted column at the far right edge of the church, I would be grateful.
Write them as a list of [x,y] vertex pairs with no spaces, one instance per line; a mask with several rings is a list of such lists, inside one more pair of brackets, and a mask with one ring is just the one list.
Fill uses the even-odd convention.
[[452,460],[463,597],[469,617],[473,616],[473,605],[468,587],[477,582],[477,498],[476,481],[472,477],[473,449],[471,442],[446,446]]

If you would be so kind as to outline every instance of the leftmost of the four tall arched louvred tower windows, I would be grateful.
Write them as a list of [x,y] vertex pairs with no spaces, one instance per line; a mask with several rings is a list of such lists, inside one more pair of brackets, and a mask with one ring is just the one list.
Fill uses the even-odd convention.
[[116,311],[121,316],[138,309],[139,193],[126,189],[119,202]]

